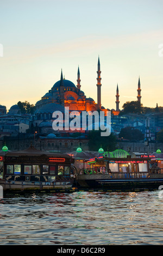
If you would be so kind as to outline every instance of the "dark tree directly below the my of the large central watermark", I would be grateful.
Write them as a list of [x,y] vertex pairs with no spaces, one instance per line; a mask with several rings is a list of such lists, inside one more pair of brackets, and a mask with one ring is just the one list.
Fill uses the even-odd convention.
[[89,132],[89,150],[98,151],[103,148],[104,151],[114,151],[116,149],[116,137],[113,133],[110,136],[101,136],[101,130]]

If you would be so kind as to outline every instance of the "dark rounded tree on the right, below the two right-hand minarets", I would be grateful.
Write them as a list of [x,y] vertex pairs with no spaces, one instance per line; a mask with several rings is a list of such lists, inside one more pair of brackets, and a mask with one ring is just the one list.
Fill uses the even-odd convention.
[[141,141],[144,139],[143,133],[131,126],[122,128],[118,137],[123,137],[124,139],[129,139],[130,141]]

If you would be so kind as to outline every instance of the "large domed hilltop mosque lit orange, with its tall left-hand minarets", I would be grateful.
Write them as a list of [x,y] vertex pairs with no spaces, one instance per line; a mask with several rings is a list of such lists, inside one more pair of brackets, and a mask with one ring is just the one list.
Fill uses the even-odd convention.
[[[64,113],[65,107],[69,108],[69,111],[108,111],[101,104],[101,68],[98,57],[97,65],[97,103],[91,97],[86,97],[81,90],[80,84],[80,71],[78,67],[77,73],[77,86],[69,80],[66,80],[62,76],[58,82],[56,82],[51,90],[46,93],[41,100],[36,102],[35,118],[31,122],[30,127],[39,127],[40,130],[44,130],[43,127],[52,127],[52,114],[54,111],[61,111]],[[118,109],[119,111],[119,109]],[[120,112],[120,111],[119,111]]]

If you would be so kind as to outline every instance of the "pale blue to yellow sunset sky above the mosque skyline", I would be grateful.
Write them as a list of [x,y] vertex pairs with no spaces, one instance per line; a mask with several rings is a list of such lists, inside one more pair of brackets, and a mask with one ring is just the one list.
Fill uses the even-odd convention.
[[117,84],[120,109],[137,100],[139,76],[143,106],[163,106],[162,10],[162,0],[0,0],[0,104],[35,105],[61,69],[77,85],[78,66],[97,102],[99,56],[102,106],[116,108]]

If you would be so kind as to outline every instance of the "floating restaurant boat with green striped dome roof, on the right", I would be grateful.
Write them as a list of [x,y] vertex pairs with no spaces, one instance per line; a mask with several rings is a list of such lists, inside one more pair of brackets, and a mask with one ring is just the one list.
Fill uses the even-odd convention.
[[76,174],[79,190],[135,191],[158,190],[163,170],[152,168],[155,155],[136,157],[117,149],[89,159],[89,169]]

